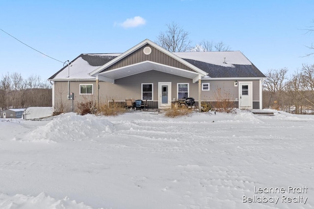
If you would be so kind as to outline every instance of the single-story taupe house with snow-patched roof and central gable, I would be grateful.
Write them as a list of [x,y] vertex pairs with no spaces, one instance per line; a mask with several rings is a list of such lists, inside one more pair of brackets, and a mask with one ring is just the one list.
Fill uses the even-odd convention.
[[55,111],[70,112],[89,100],[147,99],[163,109],[187,97],[198,107],[228,97],[240,109],[262,109],[264,78],[240,51],[171,53],[146,39],[124,53],[80,54],[48,80]]

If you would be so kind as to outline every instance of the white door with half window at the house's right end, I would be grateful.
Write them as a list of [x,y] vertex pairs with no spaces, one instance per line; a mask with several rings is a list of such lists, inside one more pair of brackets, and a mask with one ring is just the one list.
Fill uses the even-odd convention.
[[253,109],[252,82],[239,82],[239,109]]

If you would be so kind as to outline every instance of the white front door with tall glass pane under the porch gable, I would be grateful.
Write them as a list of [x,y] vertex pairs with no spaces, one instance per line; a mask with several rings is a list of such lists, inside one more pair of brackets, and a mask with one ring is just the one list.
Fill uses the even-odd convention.
[[158,108],[171,107],[171,82],[158,82]]

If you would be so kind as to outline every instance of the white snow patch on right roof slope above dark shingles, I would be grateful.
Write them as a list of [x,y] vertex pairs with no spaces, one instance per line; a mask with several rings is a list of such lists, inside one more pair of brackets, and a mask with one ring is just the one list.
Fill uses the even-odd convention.
[[234,65],[252,65],[252,63],[240,51],[174,52],[174,54],[182,59],[197,60],[224,67],[233,67]]

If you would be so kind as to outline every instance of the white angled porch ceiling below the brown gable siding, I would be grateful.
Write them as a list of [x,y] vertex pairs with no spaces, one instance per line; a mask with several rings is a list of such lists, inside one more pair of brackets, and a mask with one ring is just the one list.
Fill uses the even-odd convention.
[[[151,61],[145,61],[145,62],[137,63],[134,65],[129,65],[123,68],[108,70],[105,72],[101,72],[98,75],[100,75],[99,76],[100,80],[107,81],[108,79],[115,80],[115,79],[128,77],[130,75],[135,75],[135,74],[149,71],[149,70],[157,70],[160,72],[170,73],[170,74],[174,74],[174,75],[178,75],[178,76],[182,76],[182,77],[190,78],[190,79],[193,79],[199,75],[198,72],[174,68],[171,66],[162,65],[159,63],[151,62]],[[102,78],[105,78],[105,79],[102,79]]]

